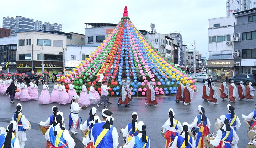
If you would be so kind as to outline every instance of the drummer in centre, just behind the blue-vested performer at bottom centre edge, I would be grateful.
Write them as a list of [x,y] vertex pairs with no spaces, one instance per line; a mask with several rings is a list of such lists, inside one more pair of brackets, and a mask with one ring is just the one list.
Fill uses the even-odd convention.
[[120,131],[123,133],[123,137],[125,138],[125,142],[128,143],[132,137],[137,136],[138,133],[137,128],[138,128],[138,114],[136,112],[132,113],[132,123],[128,123],[125,129],[120,128]]

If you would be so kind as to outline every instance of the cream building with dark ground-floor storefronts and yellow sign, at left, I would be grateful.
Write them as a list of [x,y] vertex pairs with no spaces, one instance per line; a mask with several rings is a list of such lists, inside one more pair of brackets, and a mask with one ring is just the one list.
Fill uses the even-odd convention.
[[43,71],[62,73],[66,35],[42,31],[18,32],[17,46],[17,72],[34,70],[41,73],[44,59]]

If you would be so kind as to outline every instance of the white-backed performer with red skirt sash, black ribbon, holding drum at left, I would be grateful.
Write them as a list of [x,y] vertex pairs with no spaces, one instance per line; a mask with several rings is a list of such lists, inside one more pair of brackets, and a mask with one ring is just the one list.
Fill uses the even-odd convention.
[[182,132],[180,121],[174,119],[174,110],[170,108],[168,111],[169,118],[162,126],[162,131],[165,133],[164,138],[166,139],[165,148],[167,148],[169,143],[174,141],[175,137]]

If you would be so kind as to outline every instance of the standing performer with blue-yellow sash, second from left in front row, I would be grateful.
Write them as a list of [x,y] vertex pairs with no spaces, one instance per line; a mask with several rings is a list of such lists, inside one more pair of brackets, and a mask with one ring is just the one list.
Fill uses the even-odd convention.
[[27,141],[26,130],[29,129],[29,125],[26,123],[25,115],[21,113],[22,105],[20,103],[17,104],[17,111],[12,116],[12,120],[16,121],[18,125],[18,130],[16,131],[16,137],[20,141],[20,148],[25,147],[25,141]]

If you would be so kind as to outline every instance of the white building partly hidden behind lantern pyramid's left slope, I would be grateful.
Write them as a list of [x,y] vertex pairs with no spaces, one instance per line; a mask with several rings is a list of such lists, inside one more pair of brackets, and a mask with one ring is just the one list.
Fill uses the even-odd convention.
[[84,61],[85,58],[89,57],[91,53],[97,49],[97,46],[77,46],[67,45],[64,57],[64,68],[71,70]]

